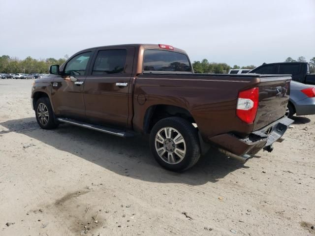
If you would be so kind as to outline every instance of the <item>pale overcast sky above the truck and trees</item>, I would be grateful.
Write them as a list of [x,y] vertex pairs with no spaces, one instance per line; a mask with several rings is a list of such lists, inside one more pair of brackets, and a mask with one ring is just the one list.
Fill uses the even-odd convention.
[[0,0],[0,55],[162,43],[231,66],[315,57],[315,0]]

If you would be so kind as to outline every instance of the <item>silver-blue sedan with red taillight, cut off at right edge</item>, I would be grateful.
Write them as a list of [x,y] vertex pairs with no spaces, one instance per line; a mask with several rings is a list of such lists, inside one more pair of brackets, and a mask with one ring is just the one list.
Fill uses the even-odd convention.
[[315,86],[291,81],[290,98],[286,108],[286,116],[315,114]]

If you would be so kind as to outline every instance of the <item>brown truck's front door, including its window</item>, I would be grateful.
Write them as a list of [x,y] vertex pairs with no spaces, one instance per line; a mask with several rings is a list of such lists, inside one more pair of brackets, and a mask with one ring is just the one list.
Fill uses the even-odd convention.
[[53,80],[52,102],[60,117],[85,119],[83,88],[93,52],[75,55],[61,67],[61,74]]

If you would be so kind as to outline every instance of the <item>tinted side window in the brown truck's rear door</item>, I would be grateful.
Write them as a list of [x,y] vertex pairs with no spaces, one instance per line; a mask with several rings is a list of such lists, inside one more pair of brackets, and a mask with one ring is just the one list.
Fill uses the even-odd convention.
[[125,49],[102,50],[97,53],[93,75],[122,73],[125,68],[127,51]]

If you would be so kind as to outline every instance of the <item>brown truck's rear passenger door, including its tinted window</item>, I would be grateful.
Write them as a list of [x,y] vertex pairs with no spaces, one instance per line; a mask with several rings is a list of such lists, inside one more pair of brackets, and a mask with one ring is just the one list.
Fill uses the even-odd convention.
[[95,53],[83,91],[90,122],[127,126],[134,52],[134,47],[106,47]]

